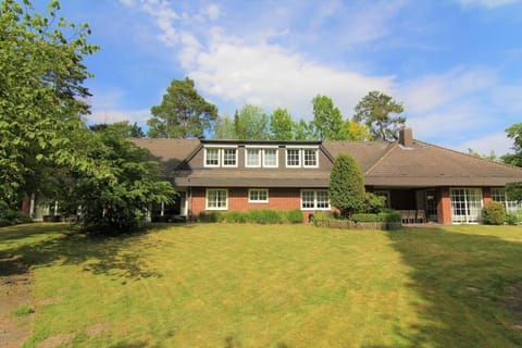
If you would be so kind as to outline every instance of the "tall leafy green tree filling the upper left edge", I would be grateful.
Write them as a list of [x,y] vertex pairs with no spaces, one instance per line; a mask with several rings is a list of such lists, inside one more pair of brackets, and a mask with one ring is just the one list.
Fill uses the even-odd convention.
[[98,47],[86,24],[59,10],[58,1],[47,14],[28,0],[0,3],[0,200],[11,208],[54,169],[91,164],[82,151],[90,96],[83,83],[91,76],[83,60]]

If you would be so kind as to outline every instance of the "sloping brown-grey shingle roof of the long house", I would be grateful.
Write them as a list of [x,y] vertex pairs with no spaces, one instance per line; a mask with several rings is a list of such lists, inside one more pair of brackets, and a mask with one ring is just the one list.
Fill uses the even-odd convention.
[[[206,169],[181,165],[201,149],[197,139],[134,139],[163,163],[163,174],[176,186],[201,187],[327,187],[330,166],[320,169]],[[243,140],[243,144],[248,141]],[[262,142],[262,141],[261,141]],[[273,142],[273,141],[272,141]],[[260,141],[256,141],[260,144]],[[289,144],[285,141],[285,144]],[[504,186],[522,181],[522,169],[413,140],[405,148],[385,141],[324,141],[335,159],[352,156],[364,173],[364,183],[387,187]],[[202,163],[201,163],[202,164]],[[184,170],[185,167],[185,170]]]

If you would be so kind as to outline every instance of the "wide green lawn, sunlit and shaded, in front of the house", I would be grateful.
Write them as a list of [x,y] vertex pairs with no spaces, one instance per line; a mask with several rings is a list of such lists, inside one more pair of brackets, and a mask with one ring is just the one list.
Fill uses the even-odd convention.
[[66,228],[0,228],[34,272],[27,347],[522,346],[522,227]]

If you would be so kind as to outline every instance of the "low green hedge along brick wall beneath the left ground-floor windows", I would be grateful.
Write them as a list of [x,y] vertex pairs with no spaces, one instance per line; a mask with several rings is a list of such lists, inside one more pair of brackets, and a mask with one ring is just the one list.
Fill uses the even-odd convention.
[[200,212],[198,222],[229,222],[229,223],[256,223],[256,224],[300,224],[303,215],[299,209],[276,211],[271,209],[256,209],[249,211]]

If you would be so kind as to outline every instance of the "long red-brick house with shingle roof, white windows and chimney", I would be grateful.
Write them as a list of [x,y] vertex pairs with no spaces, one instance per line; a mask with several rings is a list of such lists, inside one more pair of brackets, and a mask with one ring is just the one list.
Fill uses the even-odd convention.
[[[389,208],[423,210],[442,224],[476,223],[489,200],[506,202],[504,186],[522,181],[522,169],[413,139],[396,142],[135,139],[162,162],[181,194],[156,214],[195,216],[202,211],[300,209],[306,219],[331,211],[328,182],[335,158],[352,156],[366,190]],[[506,202],[508,209],[513,203]]]

